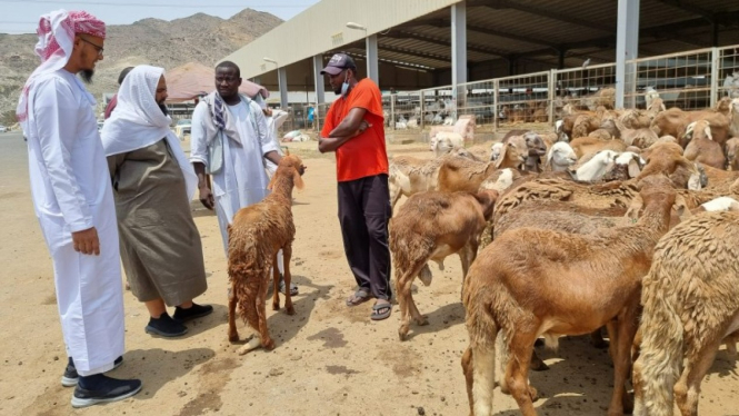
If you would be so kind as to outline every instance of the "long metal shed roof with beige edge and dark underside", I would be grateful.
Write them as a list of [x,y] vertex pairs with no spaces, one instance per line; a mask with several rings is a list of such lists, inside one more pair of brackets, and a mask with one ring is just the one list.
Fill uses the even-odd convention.
[[[381,62],[448,71],[449,6],[460,1],[323,0],[227,59],[237,61],[244,77],[257,77],[274,70],[263,65],[262,56],[290,55],[276,58],[280,66],[317,53],[363,56],[364,36],[377,33]],[[468,66],[528,61],[542,68],[568,68],[581,66],[586,59],[613,62],[617,7],[617,0],[467,0]],[[310,28],[316,20],[334,28],[324,30],[333,33],[330,46],[311,36],[317,34]],[[362,22],[367,33],[347,30],[348,21]],[[739,1],[641,0],[639,23],[639,56],[737,44]],[[316,50],[317,43],[328,47]]]

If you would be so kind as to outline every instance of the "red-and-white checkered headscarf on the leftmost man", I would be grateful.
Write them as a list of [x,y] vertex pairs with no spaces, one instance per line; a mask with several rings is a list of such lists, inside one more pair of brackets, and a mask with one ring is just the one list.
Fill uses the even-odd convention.
[[33,81],[43,73],[64,68],[72,55],[74,34],[86,33],[104,39],[106,23],[87,11],[62,9],[41,16],[36,32],[39,36],[36,55],[41,59],[41,65],[26,81],[18,100],[16,116],[21,123],[28,118],[28,92],[33,86]]

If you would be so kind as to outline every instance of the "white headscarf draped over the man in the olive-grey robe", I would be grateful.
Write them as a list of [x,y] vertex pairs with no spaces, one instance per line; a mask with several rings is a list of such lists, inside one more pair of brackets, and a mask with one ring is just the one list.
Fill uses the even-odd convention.
[[161,139],[167,143],[182,169],[188,198],[192,199],[198,177],[184,157],[180,140],[170,130],[172,119],[166,116],[154,95],[164,69],[141,65],[133,68],[118,90],[118,105],[106,120],[100,137],[106,156],[124,153],[151,146]]

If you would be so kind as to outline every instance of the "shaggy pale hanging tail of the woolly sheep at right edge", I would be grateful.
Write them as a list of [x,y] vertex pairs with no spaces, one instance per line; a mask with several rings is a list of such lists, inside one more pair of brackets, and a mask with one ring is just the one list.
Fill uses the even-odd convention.
[[682,364],[683,326],[675,309],[678,303],[658,289],[666,281],[652,277],[655,266],[659,265],[652,265],[645,278],[643,338],[633,364],[635,416],[672,416],[673,386]]

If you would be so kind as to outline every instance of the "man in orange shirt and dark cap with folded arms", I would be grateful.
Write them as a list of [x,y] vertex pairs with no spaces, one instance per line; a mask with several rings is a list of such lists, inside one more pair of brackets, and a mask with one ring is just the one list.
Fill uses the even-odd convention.
[[326,116],[318,150],[336,151],[343,249],[359,286],[347,305],[373,297],[377,300],[371,318],[386,319],[392,311],[388,248],[391,208],[380,89],[370,79],[358,81],[357,66],[344,53],[331,57],[323,73],[341,96]]

